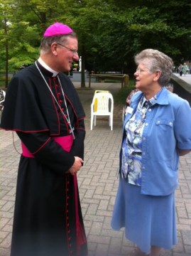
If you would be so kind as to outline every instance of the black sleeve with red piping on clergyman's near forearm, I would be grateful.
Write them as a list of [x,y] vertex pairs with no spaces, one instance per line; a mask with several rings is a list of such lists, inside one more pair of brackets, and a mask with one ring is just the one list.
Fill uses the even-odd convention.
[[63,174],[74,164],[73,154],[62,149],[47,132],[17,132],[17,134],[35,159],[48,169]]

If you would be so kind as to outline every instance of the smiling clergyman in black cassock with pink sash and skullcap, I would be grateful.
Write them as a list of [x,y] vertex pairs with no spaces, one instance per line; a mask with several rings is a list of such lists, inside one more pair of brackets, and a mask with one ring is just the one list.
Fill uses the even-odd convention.
[[40,56],[13,76],[1,129],[21,139],[11,256],[85,256],[77,172],[83,164],[84,110],[62,72],[78,61],[77,35],[62,23],[43,34]]

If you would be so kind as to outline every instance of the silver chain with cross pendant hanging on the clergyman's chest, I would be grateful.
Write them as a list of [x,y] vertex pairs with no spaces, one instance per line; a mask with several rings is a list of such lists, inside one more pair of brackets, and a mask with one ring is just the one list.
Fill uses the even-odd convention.
[[61,88],[61,91],[62,91],[62,95],[63,95],[63,97],[64,97],[65,107],[66,107],[67,117],[68,117],[68,118],[65,116],[65,113],[62,111],[62,108],[61,108],[60,105],[58,104],[58,100],[56,100],[55,95],[53,94],[52,90],[50,89],[50,87],[49,87],[49,85],[48,85],[48,82],[45,80],[45,77],[43,76],[43,73],[40,71],[40,68],[38,68],[37,63],[36,63],[36,68],[38,69],[40,75],[42,76],[43,80],[45,81],[45,84],[47,85],[48,90],[50,90],[50,93],[51,93],[51,95],[53,96],[53,98],[54,98],[56,104],[58,105],[58,107],[59,107],[59,109],[60,109],[60,112],[61,112],[62,115],[65,117],[65,119],[66,119],[66,121],[67,121],[67,124],[69,124],[69,126],[70,126],[70,133],[72,133],[72,136],[73,136],[73,138],[75,139],[75,134],[74,134],[74,129],[75,129],[75,128],[72,127],[71,122],[70,122],[70,116],[69,116],[69,112],[68,112],[68,110],[67,110],[67,104],[66,104],[66,100],[65,100],[65,93],[64,93],[64,91],[63,91],[63,89],[62,89],[62,85],[61,85],[61,82],[60,82],[60,78],[58,77],[58,81],[59,81],[59,83],[60,83],[60,88]]

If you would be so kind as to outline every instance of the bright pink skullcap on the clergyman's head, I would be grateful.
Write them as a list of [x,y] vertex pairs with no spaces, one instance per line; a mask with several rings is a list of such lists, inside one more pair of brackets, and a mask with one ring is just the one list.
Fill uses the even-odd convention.
[[62,36],[62,35],[67,35],[69,33],[72,33],[72,29],[62,23],[54,23],[53,25],[50,25],[44,33],[44,37],[48,37],[48,36]]

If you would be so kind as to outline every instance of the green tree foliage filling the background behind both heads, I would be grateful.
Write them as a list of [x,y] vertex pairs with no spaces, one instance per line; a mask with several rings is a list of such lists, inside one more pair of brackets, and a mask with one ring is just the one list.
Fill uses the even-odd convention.
[[87,70],[132,73],[144,48],[191,60],[190,0],[4,0],[0,2],[0,72],[38,58],[43,31],[66,23],[77,32]]

